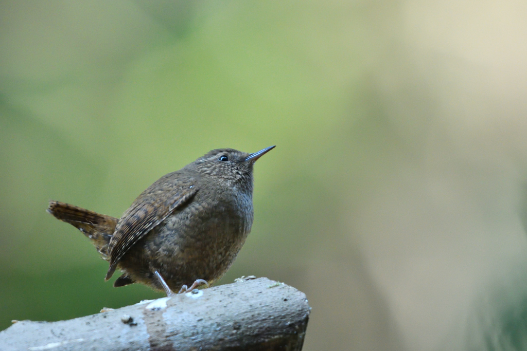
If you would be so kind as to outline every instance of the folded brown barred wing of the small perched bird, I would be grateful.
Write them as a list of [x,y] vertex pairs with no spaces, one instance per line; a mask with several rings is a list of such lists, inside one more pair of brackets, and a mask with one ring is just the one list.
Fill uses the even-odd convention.
[[119,260],[135,243],[198,192],[193,182],[181,184],[169,179],[163,181],[163,178],[144,190],[119,220],[110,241],[110,268],[106,280],[111,278]]

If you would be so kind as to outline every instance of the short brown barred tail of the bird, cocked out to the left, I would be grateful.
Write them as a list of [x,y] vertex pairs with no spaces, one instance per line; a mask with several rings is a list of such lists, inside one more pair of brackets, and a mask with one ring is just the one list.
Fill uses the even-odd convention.
[[118,218],[101,215],[99,213],[65,204],[58,201],[50,201],[47,212],[55,218],[69,223],[79,229],[87,238],[91,240],[102,258],[109,260],[108,244],[115,231]]

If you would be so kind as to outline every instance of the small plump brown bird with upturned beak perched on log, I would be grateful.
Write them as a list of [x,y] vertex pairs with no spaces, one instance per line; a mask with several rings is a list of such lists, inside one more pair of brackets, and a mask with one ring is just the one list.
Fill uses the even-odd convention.
[[[142,283],[188,292],[227,272],[252,225],[252,167],[275,146],[247,154],[216,149],[164,175],[118,219],[50,201],[47,212],[92,240],[124,272],[113,286]],[[191,284],[190,288],[187,285]]]

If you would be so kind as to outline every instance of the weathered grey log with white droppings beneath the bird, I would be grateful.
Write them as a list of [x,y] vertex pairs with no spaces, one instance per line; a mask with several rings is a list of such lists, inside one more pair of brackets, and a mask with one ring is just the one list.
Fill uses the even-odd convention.
[[301,350],[310,307],[297,289],[258,278],[194,293],[59,322],[23,320],[0,332],[0,350]]

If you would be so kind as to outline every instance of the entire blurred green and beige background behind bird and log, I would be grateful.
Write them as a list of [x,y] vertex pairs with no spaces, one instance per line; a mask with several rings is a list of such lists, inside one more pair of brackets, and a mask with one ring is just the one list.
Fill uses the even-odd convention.
[[527,349],[525,18],[520,0],[0,2],[0,329],[160,296],[105,283],[48,200],[119,217],[210,149],[276,144],[221,283],[305,292],[308,351]]

